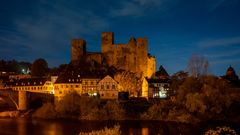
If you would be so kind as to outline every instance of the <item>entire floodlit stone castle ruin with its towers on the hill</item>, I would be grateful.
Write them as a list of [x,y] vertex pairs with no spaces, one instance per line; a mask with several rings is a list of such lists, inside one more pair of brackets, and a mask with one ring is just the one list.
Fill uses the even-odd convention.
[[101,52],[86,52],[84,39],[71,42],[71,62],[81,60],[106,63],[117,69],[123,69],[150,78],[156,71],[156,59],[148,53],[146,38],[131,37],[127,44],[115,44],[113,32],[101,34]]

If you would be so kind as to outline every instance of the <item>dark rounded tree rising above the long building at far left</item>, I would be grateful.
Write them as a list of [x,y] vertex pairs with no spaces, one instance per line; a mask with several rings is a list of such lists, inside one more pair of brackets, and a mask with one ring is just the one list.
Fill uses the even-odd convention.
[[35,77],[43,77],[48,73],[48,63],[46,60],[39,58],[32,64],[31,74]]

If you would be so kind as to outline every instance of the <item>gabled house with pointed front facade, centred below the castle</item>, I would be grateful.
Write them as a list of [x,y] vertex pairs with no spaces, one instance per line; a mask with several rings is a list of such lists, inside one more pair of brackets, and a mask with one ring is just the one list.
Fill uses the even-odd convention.
[[118,99],[118,83],[111,76],[99,81],[97,88],[101,99]]

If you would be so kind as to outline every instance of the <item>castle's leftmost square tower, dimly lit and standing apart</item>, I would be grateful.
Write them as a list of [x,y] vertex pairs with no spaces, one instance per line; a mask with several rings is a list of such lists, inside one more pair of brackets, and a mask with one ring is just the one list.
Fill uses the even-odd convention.
[[83,39],[73,39],[71,42],[71,61],[80,61],[86,54],[86,41]]

